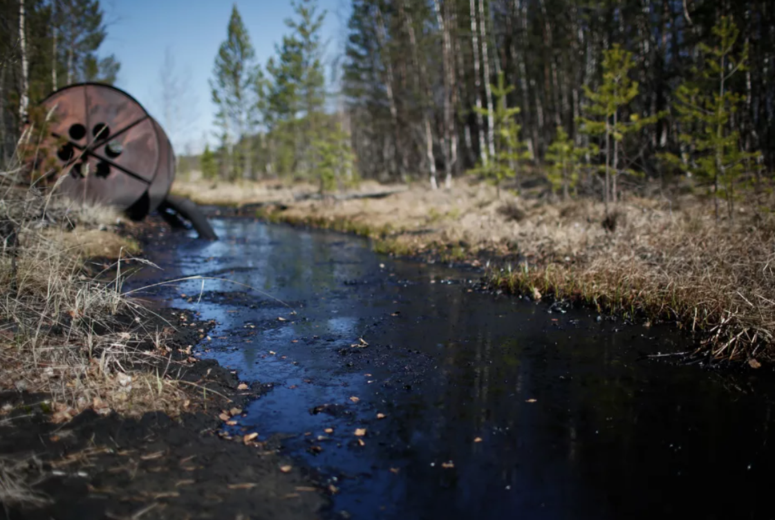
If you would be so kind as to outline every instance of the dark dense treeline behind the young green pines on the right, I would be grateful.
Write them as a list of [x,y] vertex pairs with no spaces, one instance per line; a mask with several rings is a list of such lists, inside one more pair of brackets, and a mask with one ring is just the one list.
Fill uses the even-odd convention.
[[[398,179],[455,175],[494,155],[489,84],[503,73],[522,139],[543,162],[557,128],[588,142],[586,89],[603,82],[605,51],[632,53],[639,95],[620,117],[656,118],[622,142],[632,169],[656,175],[662,152],[682,150],[674,91],[703,65],[722,17],[740,29],[746,70],[728,89],[745,97],[732,128],[742,149],[775,162],[775,5],[768,0],[354,0],[344,89],[361,172]],[[477,107],[484,107],[483,116]],[[602,144],[598,142],[598,144]],[[435,163],[435,164],[434,164]]]

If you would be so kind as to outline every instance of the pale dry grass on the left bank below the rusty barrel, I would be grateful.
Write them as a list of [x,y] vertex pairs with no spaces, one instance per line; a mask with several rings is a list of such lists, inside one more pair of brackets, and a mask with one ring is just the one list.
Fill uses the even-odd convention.
[[0,172],[0,194],[0,390],[50,395],[58,422],[86,408],[187,407],[191,391],[167,374],[172,327],[140,327],[150,311],[122,293],[122,277],[95,279],[84,267],[139,252],[116,232],[122,217],[19,188],[12,171]]

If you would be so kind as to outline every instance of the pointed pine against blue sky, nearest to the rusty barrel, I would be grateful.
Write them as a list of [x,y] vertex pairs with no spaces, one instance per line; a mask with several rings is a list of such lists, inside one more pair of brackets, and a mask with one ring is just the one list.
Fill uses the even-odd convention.
[[246,136],[253,130],[257,117],[254,84],[259,74],[254,63],[256,53],[236,5],[232,6],[226,35],[215,57],[210,88],[212,101],[218,107],[215,125],[222,130],[226,144],[223,152],[230,160],[228,176],[236,180],[245,173],[252,176],[253,150]]

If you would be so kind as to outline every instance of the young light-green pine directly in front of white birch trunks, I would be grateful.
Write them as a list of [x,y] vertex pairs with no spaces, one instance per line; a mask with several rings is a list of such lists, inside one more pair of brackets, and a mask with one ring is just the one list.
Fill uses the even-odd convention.
[[[487,162],[480,162],[470,173],[483,176],[493,183],[498,189],[498,197],[501,196],[501,183],[505,179],[516,176],[518,163],[530,159],[530,153],[525,143],[519,140],[519,132],[522,127],[518,125],[515,116],[519,108],[509,108],[506,104],[508,94],[514,90],[512,85],[505,86],[504,74],[498,74],[498,84],[491,85],[495,98],[493,111],[494,121],[494,155]],[[481,115],[487,115],[487,108],[478,108]]]

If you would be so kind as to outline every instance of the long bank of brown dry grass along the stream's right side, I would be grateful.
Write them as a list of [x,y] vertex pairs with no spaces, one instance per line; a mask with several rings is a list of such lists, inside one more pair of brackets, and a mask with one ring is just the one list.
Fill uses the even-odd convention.
[[[734,221],[717,223],[712,205],[694,196],[630,197],[607,231],[597,202],[498,199],[480,183],[339,200],[305,200],[311,186],[277,186],[188,183],[174,190],[206,204],[259,204],[257,214],[269,221],[369,236],[381,252],[472,265],[494,258],[485,277],[491,286],[672,322],[697,334],[699,351],[716,358],[775,354],[775,221],[753,203],[739,207]],[[389,189],[367,183],[359,193]],[[240,199],[240,192],[249,195]]]

